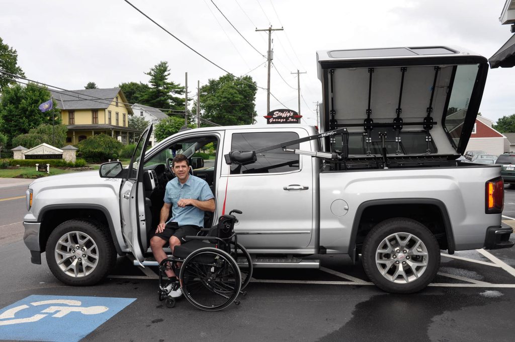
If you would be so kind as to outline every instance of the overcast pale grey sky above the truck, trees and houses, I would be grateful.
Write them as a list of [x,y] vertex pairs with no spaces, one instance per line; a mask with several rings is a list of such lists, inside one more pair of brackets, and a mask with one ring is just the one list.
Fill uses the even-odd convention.
[[[177,38],[234,75],[249,73],[266,88],[266,29],[274,50],[271,92],[298,110],[300,75],[303,123],[314,125],[321,101],[316,51],[371,47],[461,46],[491,57],[510,37],[499,16],[505,0],[129,0]],[[259,50],[230,26],[213,5]],[[0,37],[18,51],[27,78],[68,90],[93,81],[99,88],[148,82],[150,67],[168,61],[170,79],[196,96],[225,72],[169,36],[124,0],[0,0]],[[260,64],[263,65],[259,66]],[[259,67],[258,67],[259,66]],[[284,78],[281,79],[281,76]],[[295,89],[294,89],[295,88]],[[515,70],[489,71],[480,111],[494,121],[515,113]],[[273,97],[270,108],[283,108]],[[266,91],[256,96],[265,123]]]

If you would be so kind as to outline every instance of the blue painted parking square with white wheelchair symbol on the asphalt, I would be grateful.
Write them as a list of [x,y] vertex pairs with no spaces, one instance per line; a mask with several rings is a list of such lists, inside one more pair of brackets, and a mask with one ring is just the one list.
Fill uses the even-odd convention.
[[0,339],[75,342],[135,298],[32,295],[0,310]]

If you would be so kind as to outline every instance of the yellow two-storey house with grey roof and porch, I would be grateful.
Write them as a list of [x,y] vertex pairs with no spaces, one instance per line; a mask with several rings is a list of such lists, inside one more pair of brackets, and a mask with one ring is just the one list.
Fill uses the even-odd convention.
[[61,110],[63,125],[68,127],[69,144],[104,133],[127,145],[129,135],[134,140],[141,133],[128,126],[132,109],[120,88],[51,92]]

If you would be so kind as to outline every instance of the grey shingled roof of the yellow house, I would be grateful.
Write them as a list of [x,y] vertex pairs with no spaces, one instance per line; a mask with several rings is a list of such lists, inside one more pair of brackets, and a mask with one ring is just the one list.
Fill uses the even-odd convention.
[[56,100],[57,108],[64,110],[106,109],[111,105],[114,97],[118,95],[119,92],[121,92],[120,88],[79,89],[71,91],[50,90],[50,93],[52,93],[52,96]]

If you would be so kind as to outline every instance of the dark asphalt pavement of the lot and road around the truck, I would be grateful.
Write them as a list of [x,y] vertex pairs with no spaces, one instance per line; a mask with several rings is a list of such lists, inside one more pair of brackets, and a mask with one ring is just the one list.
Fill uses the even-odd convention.
[[[26,340],[513,340],[515,249],[443,254],[434,283],[414,295],[386,294],[370,284],[361,265],[326,255],[320,270],[255,270],[248,295],[239,306],[208,313],[183,299],[168,309],[158,300],[156,269],[134,267],[125,257],[118,258],[110,277],[90,287],[57,281],[46,266],[45,254],[42,265],[31,264],[21,231],[16,232],[22,228],[19,222],[26,209],[25,200],[15,197],[22,196],[27,185],[4,185],[0,180],[0,199],[7,199],[0,201],[0,339],[11,336],[16,324],[22,324]],[[509,203],[515,203],[515,190],[506,190],[504,213],[513,218],[515,211]],[[14,237],[2,244],[6,232]],[[31,303],[42,303],[37,301],[42,298],[79,299],[87,307],[77,310],[93,307],[95,300],[104,298],[101,305],[109,307],[108,312],[114,310],[109,300],[134,300],[88,330],[95,315],[71,312],[54,317],[55,303],[31,307],[35,305]],[[19,311],[9,318],[6,308],[11,313]],[[2,325],[29,317],[25,310],[36,310],[37,318],[43,317],[39,323]],[[23,324],[33,325],[27,329]],[[42,331],[54,326],[59,333],[41,337]],[[80,333],[82,328],[85,332]]]

